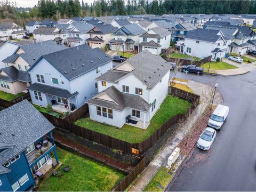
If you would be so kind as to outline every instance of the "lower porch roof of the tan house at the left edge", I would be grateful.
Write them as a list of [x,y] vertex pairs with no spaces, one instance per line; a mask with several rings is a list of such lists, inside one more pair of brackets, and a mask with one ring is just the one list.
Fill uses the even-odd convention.
[[21,81],[21,82],[31,82],[30,76],[27,71],[18,70],[14,66],[9,66],[0,69],[7,76],[0,75],[0,79],[7,82]]

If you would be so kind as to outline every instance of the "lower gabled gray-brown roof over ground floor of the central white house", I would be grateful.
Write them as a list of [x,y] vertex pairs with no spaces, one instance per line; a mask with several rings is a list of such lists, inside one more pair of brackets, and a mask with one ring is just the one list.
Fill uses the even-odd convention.
[[[103,99],[98,99],[97,97],[102,93],[107,94],[111,99],[115,102],[107,101]],[[93,98],[86,101],[86,103],[90,103],[92,105],[107,107],[110,109],[123,111],[126,107],[132,108],[140,111],[148,111],[151,107],[147,101],[145,101],[139,95],[133,95],[129,93],[122,93],[116,89],[115,86],[110,86],[108,89],[103,90],[102,92],[95,95]]]

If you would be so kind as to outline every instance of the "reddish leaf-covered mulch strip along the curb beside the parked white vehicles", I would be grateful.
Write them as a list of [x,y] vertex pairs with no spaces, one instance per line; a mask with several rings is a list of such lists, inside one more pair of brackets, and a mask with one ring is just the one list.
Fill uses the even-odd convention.
[[206,113],[204,113],[203,116],[198,119],[193,126],[193,130],[191,131],[191,133],[189,135],[186,135],[186,137],[181,140],[178,147],[180,148],[182,154],[188,155],[190,150],[195,146],[199,135],[206,128],[209,121],[209,116],[212,114],[212,112],[213,110],[208,110]]

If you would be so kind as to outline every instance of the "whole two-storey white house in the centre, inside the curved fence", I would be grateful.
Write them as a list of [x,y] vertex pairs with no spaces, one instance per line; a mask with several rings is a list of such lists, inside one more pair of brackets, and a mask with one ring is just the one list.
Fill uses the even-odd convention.
[[138,53],[96,78],[99,93],[86,102],[90,118],[119,128],[131,119],[130,125],[147,129],[167,95],[169,77],[163,58]]

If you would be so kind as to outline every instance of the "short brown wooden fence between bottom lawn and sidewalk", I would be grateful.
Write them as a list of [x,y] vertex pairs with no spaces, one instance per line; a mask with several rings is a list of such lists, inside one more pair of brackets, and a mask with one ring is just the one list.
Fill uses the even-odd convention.
[[145,157],[138,156],[141,161],[134,167],[134,169],[122,180],[113,191],[124,191],[131,182],[145,169]]

